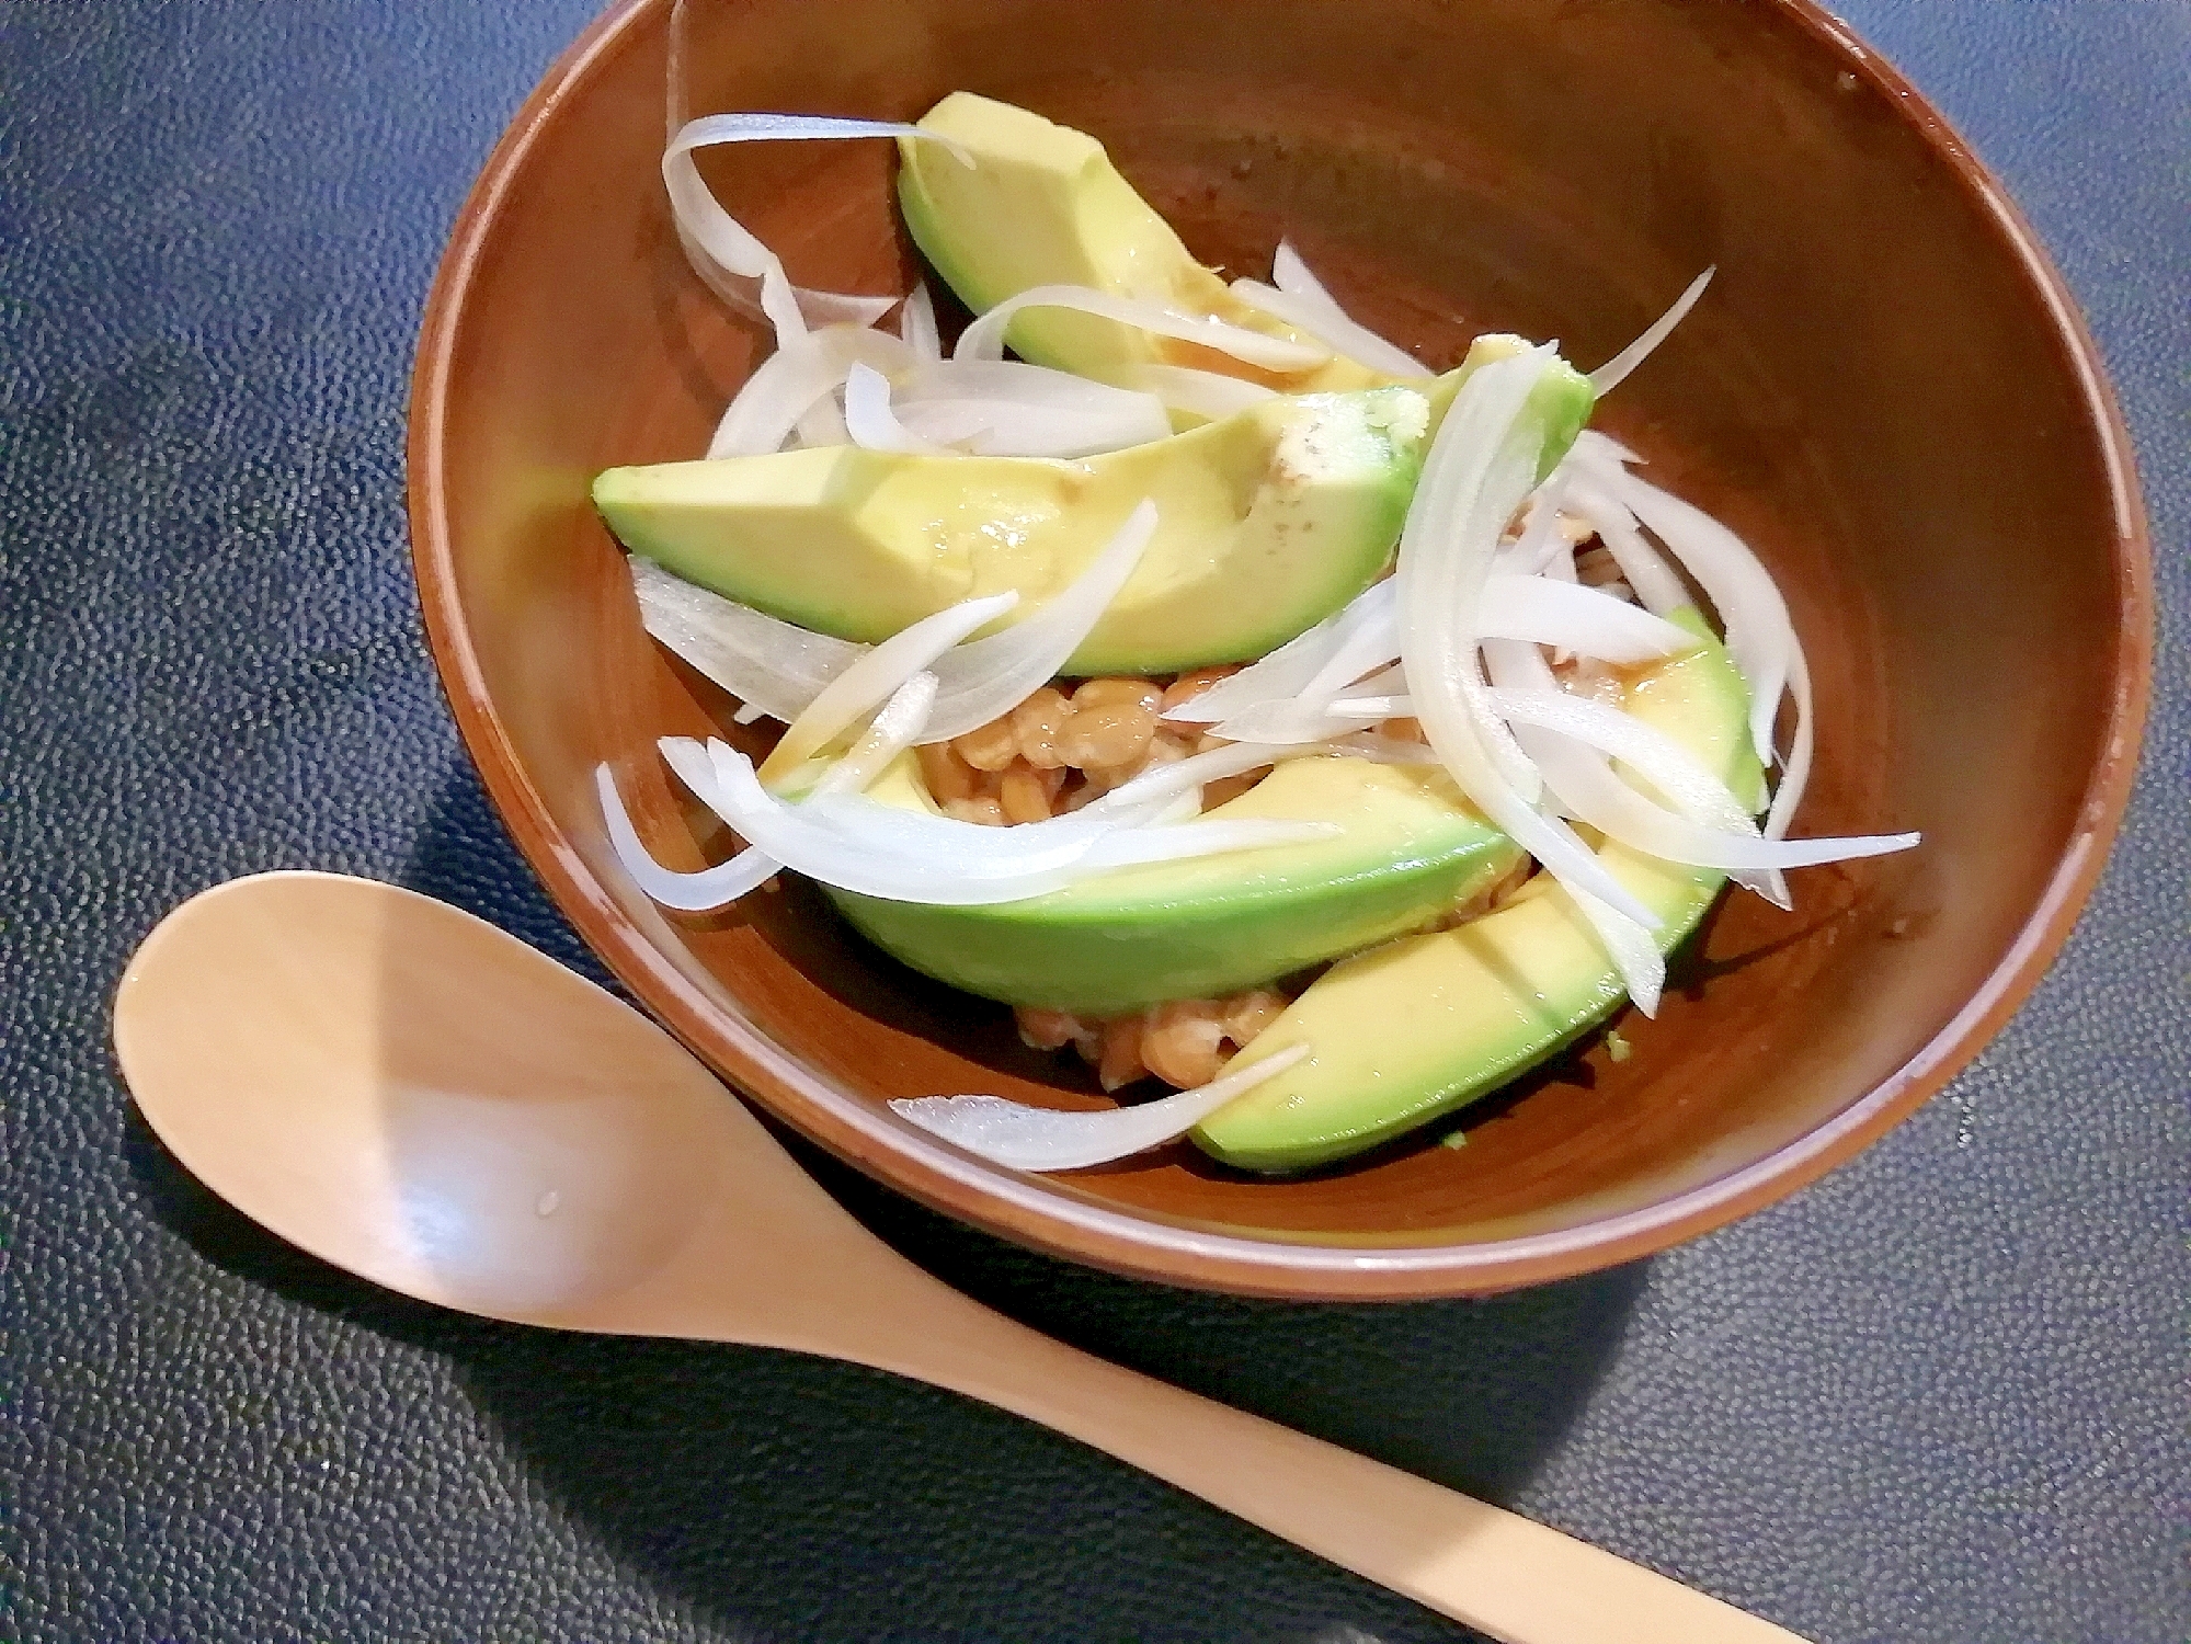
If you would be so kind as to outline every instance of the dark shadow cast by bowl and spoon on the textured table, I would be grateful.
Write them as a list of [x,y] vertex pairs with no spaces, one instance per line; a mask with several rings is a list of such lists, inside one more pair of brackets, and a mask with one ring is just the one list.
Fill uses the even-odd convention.
[[[405,881],[572,956],[469,767],[451,774]],[[1488,1302],[1170,1291],[1006,1245],[778,1135],[854,1217],[966,1293],[1490,1499],[1510,1499],[1558,1445],[1643,1285],[1637,1265]],[[1402,1644],[1464,1631],[955,1394],[795,1355],[567,1337],[386,1295],[213,1199],[134,1114],[129,1146],[162,1219],[208,1260],[449,1357],[563,1510],[727,1635]]]

